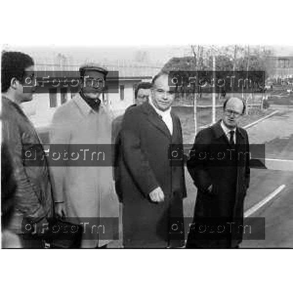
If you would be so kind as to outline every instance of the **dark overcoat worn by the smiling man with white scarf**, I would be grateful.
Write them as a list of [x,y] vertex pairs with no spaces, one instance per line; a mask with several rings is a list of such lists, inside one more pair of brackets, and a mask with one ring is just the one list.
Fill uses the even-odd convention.
[[[169,147],[182,147],[179,118],[171,112],[173,134],[148,103],[129,108],[121,129],[120,160],[123,197],[124,247],[165,248],[184,241],[183,198],[186,197],[183,161],[172,166]],[[165,200],[151,202],[149,193],[161,187]],[[171,219],[172,218],[172,219]],[[176,229],[170,230],[172,221]]]

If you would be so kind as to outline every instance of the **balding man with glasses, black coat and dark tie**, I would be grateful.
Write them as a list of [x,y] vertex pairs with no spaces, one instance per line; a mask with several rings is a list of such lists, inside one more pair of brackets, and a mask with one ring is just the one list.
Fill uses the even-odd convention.
[[232,97],[223,110],[221,120],[198,132],[189,152],[197,197],[187,248],[238,248],[242,241],[250,182],[248,134],[238,126],[245,104]]

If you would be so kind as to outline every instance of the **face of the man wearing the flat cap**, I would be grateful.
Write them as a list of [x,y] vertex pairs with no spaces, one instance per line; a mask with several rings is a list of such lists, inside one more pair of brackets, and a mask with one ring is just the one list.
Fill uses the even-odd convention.
[[97,99],[103,92],[105,76],[98,71],[85,71],[82,80],[82,89],[86,97]]

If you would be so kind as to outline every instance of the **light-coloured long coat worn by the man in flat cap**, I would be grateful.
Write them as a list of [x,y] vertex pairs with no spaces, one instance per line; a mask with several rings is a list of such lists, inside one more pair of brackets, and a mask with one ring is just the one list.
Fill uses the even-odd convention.
[[[94,112],[80,95],[58,108],[52,119],[50,144],[64,144],[70,153],[70,144],[111,144],[111,119],[105,107]],[[85,148],[85,147],[84,147]],[[81,153],[83,155],[83,152]],[[89,222],[83,235],[82,248],[94,248],[111,242],[97,237],[94,228],[99,218],[119,217],[119,202],[114,189],[112,167],[52,167],[56,199],[65,202],[66,218],[77,224]],[[74,218],[74,219],[73,219]],[[87,219],[84,219],[87,218]],[[90,218],[90,219],[88,219]],[[117,224],[118,226],[118,224]],[[114,229],[115,228],[115,229]],[[109,234],[109,226],[105,225]],[[100,229],[99,233],[103,233]],[[100,239],[99,239],[100,238]],[[116,238],[117,239],[117,238]]]

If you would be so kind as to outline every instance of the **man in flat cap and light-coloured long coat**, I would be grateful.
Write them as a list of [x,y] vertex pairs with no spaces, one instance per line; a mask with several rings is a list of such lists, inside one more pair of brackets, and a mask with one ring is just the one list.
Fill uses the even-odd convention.
[[[88,145],[111,147],[111,119],[102,101],[106,75],[107,71],[96,64],[80,67],[80,93],[54,113],[51,144],[63,145],[68,154],[72,153],[74,145],[80,145],[84,150],[89,148]],[[108,153],[111,150],[106,155]],[[91,160],[90,155],[88,160]],[[84,165],[68,166],[67,162],[64,166],[52,167],[57,194],[56,212],[65,214],[70,221],[75,219],[77,224],[82,223],[84,229],[92,230],[83,233],[82,248],[105,248],[111,240],[117,239],[114,235],[116,229],[105,239],[97,232],[97,227],[103,226],[101,219],[119,217],[112,166],[99,166],[98,163],[87,166],[90,165],[87,161]],[[106,232],[109,234],[108,230]]]

